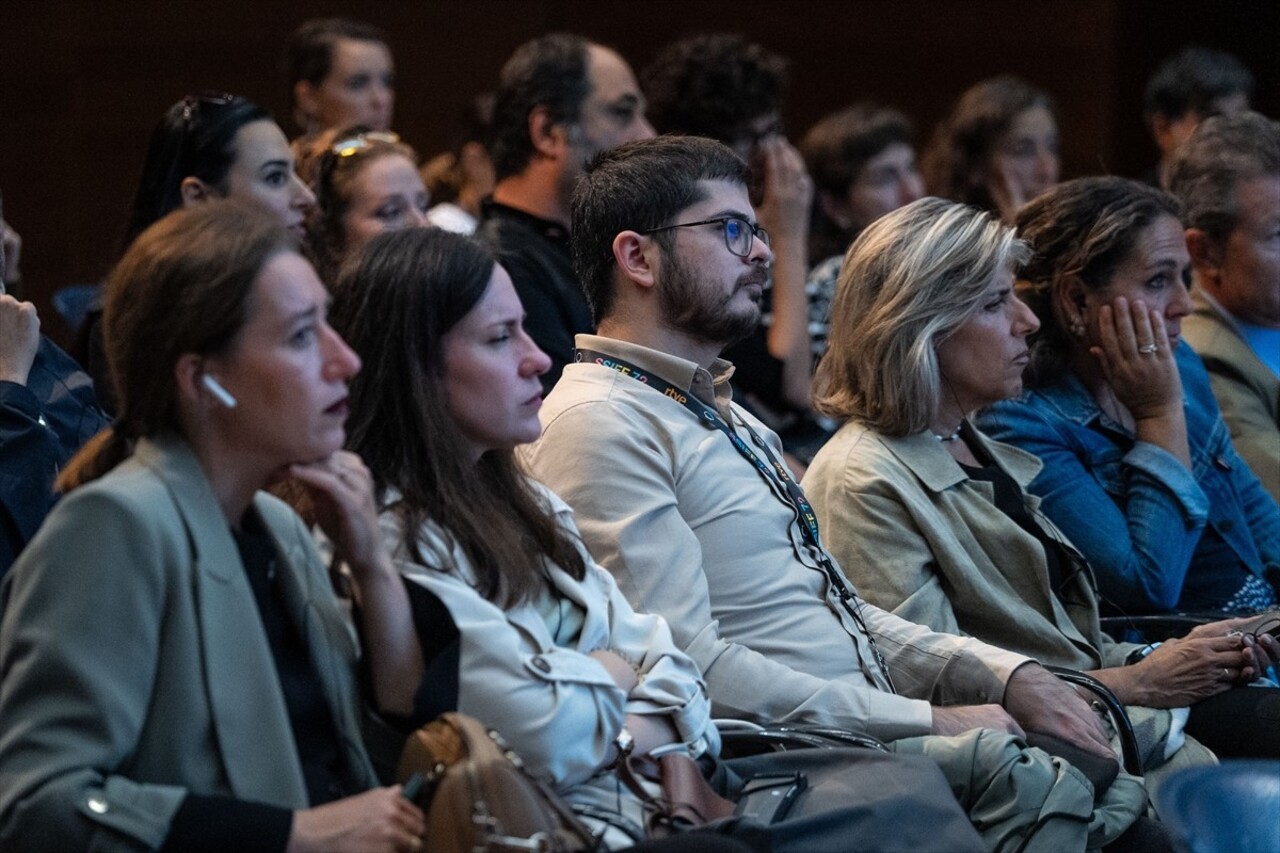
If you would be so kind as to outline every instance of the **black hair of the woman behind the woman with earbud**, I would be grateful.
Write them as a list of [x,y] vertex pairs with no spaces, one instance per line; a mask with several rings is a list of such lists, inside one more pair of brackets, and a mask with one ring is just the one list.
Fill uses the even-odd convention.
[[246,124],[270,120],[270,113],[238,95],[188,95],[170,106],[151,133],[124,245],[182,206],[183,178],[225,192],[236,134]]

